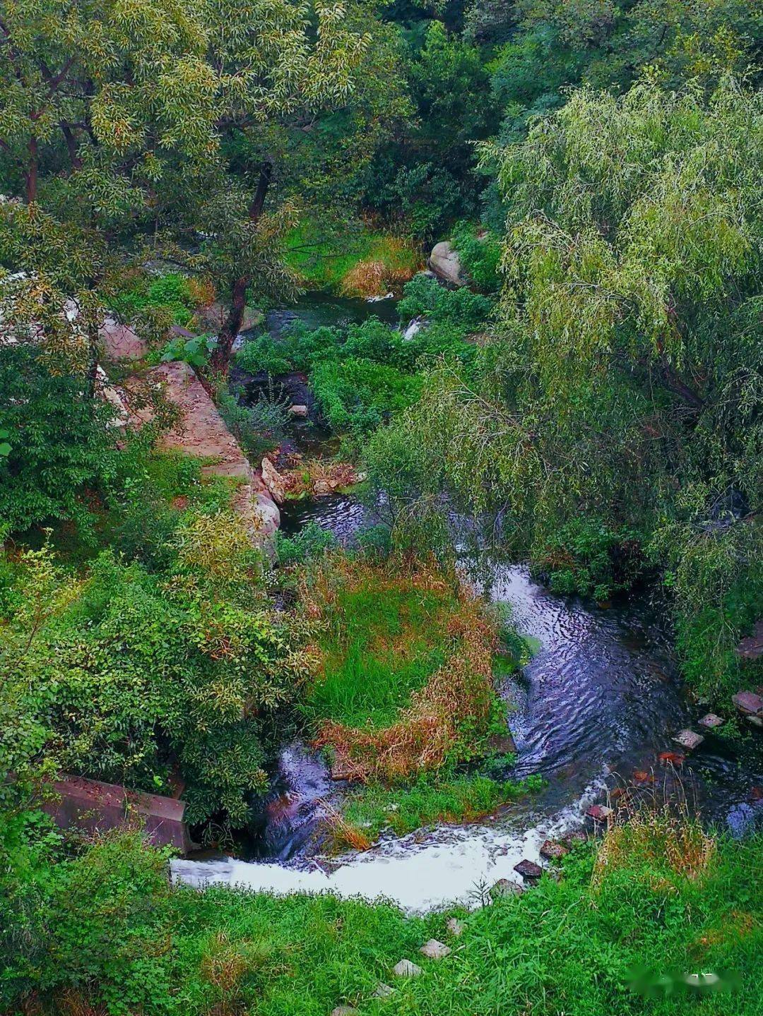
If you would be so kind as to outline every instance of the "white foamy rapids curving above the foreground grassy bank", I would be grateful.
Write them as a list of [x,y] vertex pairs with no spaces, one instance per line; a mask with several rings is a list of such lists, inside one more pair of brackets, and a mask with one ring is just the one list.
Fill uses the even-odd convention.
[[522,832],[496,825],[441,827],[425,843],[416,834],[352,856],[333,871],[252,863],[226,858],[215,861],[173,861],[175,882],[202,888],[229,885],[257,892],[329,892],[336,896],[384,898],[408,913],[421,913],[450,903],[475,906],[481,891],[499,879],[521,882],[514,865],[523,859],[541,863],[545,839],[580,826],[583,812],[600,795],[603,777],[586,787],[574,805],[553,819]]

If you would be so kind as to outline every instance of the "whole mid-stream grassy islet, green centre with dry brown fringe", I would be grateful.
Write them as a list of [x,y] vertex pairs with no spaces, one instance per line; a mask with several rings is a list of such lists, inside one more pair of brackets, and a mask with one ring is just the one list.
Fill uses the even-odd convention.
[[498,624],[455,573],[334,556],[304,595],[323,635],[302,708],[334,772],[409,778],[486,754],[490,734],[505,733]]

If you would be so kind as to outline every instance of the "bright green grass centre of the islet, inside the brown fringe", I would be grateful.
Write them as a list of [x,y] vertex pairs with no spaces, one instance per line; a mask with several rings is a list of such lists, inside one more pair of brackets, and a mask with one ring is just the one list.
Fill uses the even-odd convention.
[[322,639],[322,674],[303,711],[313,721],[389,726],[441,666],[449,648],[445,631],[451,595],[379,586],[339,590]]

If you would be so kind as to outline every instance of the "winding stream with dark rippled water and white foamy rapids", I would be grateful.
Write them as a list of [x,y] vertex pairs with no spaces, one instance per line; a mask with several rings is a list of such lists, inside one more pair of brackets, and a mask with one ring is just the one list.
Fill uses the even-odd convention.
[[[382,305],[385,318],[394,320],[391,300],[303,300],[277,312],[268,327],[275,331],[295,316],[311,324],[361,320]],[[284,506],[285,532],[310,521],[349,545],[375,518],[352,495]],[[463,563],[468,568],[468,560]],[[319,756],[295,742],[280,754],[271,792],[240,855],[173,861],[174,877],[192,885],[381,896],[410,912],[454,900],[480,902],[485,887],[498,879],[519,882],[515,864],[538,861],[546,838],[584,827],[585,810],[616,786],[632,786],[634,773],[638,793],[657,802],[685,798],[691,811],[700,810],[705,821],[735,835],[761,823],[760,739],[732,744],[696,726],[707,710],[687,694],[659,606],[646,595],[609,609],[555,595],[521,565],[495,563],[487,582],[481,575],[489,597],[508,604],[519,632],[538,646],[518,677],[504,680],[500,693],[517,746],[509,775],[542,774],[547,782],[541,792],[475,825],[389,837],[364,853],[326,859],[316,852],[316,833],[324,802],[338,800],[342,788],[332,783]],[[677,770],[661,765],[659,753],[680,752],[672,738],[687,726],[702,731],[703,744]]]

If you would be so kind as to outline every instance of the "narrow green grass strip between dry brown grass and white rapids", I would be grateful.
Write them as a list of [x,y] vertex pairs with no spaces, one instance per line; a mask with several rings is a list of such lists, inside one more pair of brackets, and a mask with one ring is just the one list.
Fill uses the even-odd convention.
[[[504,761],[509,764],[510,758]],[[532,776],[517,782],[480,773],[450,777],[439,773],[422,776],[404,787],[374,783],[348,799],[342,818],[372,841],[387,829],[404,836],[424,826],[473,822],[537,789],[542,782]]]

